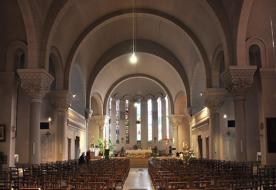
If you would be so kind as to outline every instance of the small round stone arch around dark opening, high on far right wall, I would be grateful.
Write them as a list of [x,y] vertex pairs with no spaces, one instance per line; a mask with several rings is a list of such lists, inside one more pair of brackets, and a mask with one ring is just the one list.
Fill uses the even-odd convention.
[[267,61],[267,45],[265,43],[265,41],[260,38],[260,37],[251,37],[249,38],[246,42],[245,42],[245,48],[247,51],[247,55],[246,55],[246,64],[249,64],[249,48],[251,45],[258,45],[259,48],[261,49],[261,61],[262,61],[262,68],[268,68],[268,61]]

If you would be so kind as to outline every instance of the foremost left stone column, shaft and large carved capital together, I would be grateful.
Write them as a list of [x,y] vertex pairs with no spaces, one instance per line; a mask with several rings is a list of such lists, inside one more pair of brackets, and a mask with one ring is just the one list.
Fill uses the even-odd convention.
[[30,98],[29,164],[40,163],[40,105],[54,77],[45,69],[17,69],[21,87]]

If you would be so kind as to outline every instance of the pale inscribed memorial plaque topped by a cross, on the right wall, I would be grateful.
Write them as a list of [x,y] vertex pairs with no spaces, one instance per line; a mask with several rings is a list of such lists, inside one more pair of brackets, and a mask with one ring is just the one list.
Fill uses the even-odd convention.
[[222,135],[222,147],[223,147],[223,159],[227,161],[236,160],[236,142],[235,134],[231,134],[227,131]]

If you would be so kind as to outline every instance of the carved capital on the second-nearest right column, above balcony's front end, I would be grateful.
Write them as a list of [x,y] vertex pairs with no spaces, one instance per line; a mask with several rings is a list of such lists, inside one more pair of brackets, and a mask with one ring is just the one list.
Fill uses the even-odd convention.
[[209,110],[219,110],[224,103],[225,94],[226,91],[223,88],[206,88],[202,92],[202,98]]

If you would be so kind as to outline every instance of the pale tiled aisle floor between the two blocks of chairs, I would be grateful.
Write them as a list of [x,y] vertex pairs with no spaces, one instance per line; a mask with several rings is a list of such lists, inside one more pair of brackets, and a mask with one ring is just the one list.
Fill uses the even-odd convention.
[[[139,171],[139,169],[143,169],[143,171]],[[151,178],[148,174],[148,168],[130,168],[128,178],[125,180],[123,187],[123,190],[128,189],[154,190]]]

